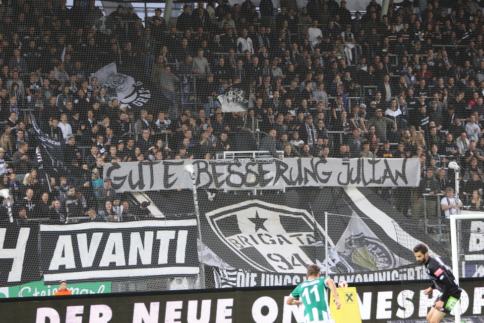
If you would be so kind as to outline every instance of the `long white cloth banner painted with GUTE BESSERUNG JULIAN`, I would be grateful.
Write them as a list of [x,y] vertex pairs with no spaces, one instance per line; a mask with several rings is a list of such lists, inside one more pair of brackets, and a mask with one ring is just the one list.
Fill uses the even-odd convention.
[[193,164],[198,188],[254,189],[301,186],[413,187],[420,159],[286,158],[165,160],[106,163],[104,178],[120,192],[192,189],[185,164]]

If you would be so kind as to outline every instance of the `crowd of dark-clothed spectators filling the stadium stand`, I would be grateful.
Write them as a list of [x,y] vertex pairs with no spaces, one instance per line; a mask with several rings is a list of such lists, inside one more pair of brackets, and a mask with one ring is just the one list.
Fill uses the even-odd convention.
[[[261,0],[259,11],[251,0],[217,0],[184,5],[175,24],[160,9],[143,24],[122,5],[102,22],[94,0],[73,3],[0,5],[0,186],[15,216],[149,217],[146,203],[129,205],[103,180],[105,162],[237,150],[420,158],[415,200],[445,194],[445,166],[456,160],[461,192],[482,208],[478,2],[427,1],[420,11],[404,1],[380,19],[375,0],[355,17],[345,0],[281,0],[280,10]],[[111,63],[151,88],[149,104],[123,103],[91,76]],[[219,95],[242,95],[247,112],[222,112]],[[39,136],[58,147],[53,158]],[[52,172],[53,160],[70,172]],[[387,191],[377,190],[390,199]]]

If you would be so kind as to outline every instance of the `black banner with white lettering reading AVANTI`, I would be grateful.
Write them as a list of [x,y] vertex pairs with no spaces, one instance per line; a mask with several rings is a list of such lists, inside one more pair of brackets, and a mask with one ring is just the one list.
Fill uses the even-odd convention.
[[40,233],[48,282],[199,271],[195,220],[41,225]]

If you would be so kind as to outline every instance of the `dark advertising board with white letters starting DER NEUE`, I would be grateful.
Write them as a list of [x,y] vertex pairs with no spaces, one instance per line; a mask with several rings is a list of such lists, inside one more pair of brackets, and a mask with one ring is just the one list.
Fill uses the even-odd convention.
[[[353,284],[362,322],[424,319],[438,296],[425,296],[428,284],[401,282]],[[463,317],[482,316],[484,281],[461,283]],[[83,323],[295,323],[303,308],[286,305],[294,286],[225,288],[186,292],[88,294],[60,297],[1,299],[3,322]]]

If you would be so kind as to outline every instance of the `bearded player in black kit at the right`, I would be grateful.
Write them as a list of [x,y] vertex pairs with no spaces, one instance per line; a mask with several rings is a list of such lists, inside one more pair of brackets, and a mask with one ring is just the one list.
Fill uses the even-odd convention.
[[426,318],[429,323],[439,323],[446,314],[452,311],[457,301],[459,301],[462,289],[457,285],[450,268],[442,260],[428,256],[427,246],[424,244],[415,246],[414,255],[417,262],[425,266],[427,276],[433,282],[432,286],[425,289],[424,294],[432,294],[435,288],[441,293],[435,303],[433,303]]

